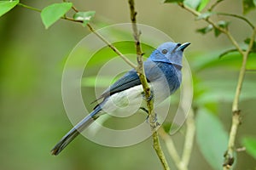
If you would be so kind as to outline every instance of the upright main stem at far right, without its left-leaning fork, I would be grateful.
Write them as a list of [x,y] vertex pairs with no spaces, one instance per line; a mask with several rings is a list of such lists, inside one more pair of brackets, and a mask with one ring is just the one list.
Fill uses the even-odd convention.
[[224,170],[230,169],[234,163],[234,152],[235,152],[235,141],[236,141],[236,133],[238,126],[241,123],[241,111],[239,110],[239,99],[241,95],[241,87],[242,87],[242,82],[244,80],[244,76],[246,73],[246,65],[247,65],[247,57],[253,48],[253,41],[256,36],[256,28],[253,30],[253,35],[251,37],[251,41],[249,42],[249,46],[247,50],[243,53],[242,55],[242,64],[241,64],[241,69],[238,77],[238,82],[236,85],[236,94],[235,98],[232,104],[232,125],[230,129],[230,139],[229,139],[229,144],[228,144],[228,150],[226,151],[224,155]]

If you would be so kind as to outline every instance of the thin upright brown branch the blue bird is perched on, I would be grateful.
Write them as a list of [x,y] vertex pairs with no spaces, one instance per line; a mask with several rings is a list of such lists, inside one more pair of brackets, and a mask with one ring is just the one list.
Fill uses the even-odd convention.
[[145,77],[145,71],[144,71],[144,67],[143,67],[143,51],[142,51],[141,43],[140,43],[141,32],[139,32],[137,29],[137,20],[136,20],[137,12],[135,11],[134,0],[129,0],[129,4],[130,4],[130,11],[131,11],[132,30],[134,33],[133,36],[135,39],[135,45],[136,45],[136,51],[137,51],[137,64],[138,64],[137,65],[137,73],[138,73],[140,81],[142,82],[142,85],[143,85],[143,91],[145,94],[145,98],[147,99],[148,120],[150,123],[151,131],[153,133],[152,134],[153,147],[157,153],[157,156],[160,158],[160,161],[161,161],[164,169],[169,170],[170,167],[168,166],[164,152],[161,149],[159,136],[156,131],[156,127],[158,127],[158,124],[157,124],[157,121],[155,121],[156,114],[154,112],[154,103],[153,103],[153,100],[151,99],[153,94],[150,91],[150,88],[149,88],[148,82],[147,82],[147,78]]

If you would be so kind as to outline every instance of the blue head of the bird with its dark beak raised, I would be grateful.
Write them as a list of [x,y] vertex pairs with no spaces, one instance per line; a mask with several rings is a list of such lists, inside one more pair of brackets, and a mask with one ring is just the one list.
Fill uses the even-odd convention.
[[176,42],[162,43],[154,50],[149,59],[152,61],[171,63],[182,67],[183,50],[187,48],[189,44],[189,42],[184,42],[183,44]]

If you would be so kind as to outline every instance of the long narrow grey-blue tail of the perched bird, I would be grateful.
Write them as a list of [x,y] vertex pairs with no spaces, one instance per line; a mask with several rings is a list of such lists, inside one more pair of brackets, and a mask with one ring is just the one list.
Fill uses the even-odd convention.
[[73,139],[75,139],[79,133],[81,133],[86,127],[96,121],[98,116],[95,116],[96,113],[101,111],[101,108],[98,106],[94,111],[92,111],[88,116],[84,117],[84,119],[79,122],[75,127],[73,127],[63,138],[55,145],[55,147],[51,150],[51,154],[57,156],[61,150],[63,150],[67,144],[69,144]]

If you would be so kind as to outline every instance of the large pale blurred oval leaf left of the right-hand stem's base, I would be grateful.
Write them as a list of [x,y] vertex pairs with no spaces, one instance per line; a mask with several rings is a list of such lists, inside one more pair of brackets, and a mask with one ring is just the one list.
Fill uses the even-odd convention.
[[218,117],[206,109],[200,109],[196,117],[196,129],[196,139],[202,155],[213,169],[222,169],[228,134]]

